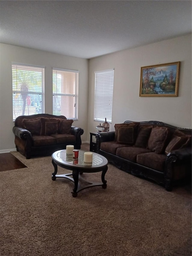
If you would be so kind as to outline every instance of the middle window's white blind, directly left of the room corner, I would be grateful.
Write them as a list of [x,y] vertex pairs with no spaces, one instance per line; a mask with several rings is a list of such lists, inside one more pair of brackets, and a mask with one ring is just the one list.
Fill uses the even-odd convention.
[[78,119],[79,72],[53,68],[53,114]]

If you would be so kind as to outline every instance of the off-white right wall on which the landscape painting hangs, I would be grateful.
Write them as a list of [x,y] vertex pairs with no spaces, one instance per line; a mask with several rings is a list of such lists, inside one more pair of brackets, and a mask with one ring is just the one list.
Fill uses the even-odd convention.
[[[143,66],[180,61],[178,97],[139,97],[140,70]],[[115,123],[125,120],[158,120],[180,127],[191,127],[191,34],[119,51],[89,60],[88,131],[96,132],[94,117],[94,71],[115,68],[113,114]],[[89,134],[87,135],[89,140]]]

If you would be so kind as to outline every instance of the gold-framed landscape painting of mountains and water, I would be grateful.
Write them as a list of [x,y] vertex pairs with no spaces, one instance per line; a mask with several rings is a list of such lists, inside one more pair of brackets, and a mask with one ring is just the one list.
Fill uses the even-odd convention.
[[141,67],[140,97],[177,97],[180,62]]

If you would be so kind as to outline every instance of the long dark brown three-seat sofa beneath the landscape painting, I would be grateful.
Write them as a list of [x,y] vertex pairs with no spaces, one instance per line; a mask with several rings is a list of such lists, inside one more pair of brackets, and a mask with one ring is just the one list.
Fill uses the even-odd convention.
[[191,180],[191,129],[125,121],[116,124],[115,131],[98,132],[96,148],[119,169],[152,179],[167,191]]

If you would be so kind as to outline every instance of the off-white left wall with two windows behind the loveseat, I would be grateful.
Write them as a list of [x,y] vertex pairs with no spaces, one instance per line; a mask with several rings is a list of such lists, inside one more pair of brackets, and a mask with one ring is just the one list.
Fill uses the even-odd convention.
[[88,109],[88,60],[40,50],[0,44],[0,152],[15,149],[12,128],[11,62],[45,66],[45,113],[52,114],[52,68],[79,71],[79,113],[73,125],[82,127],[86,140]]

